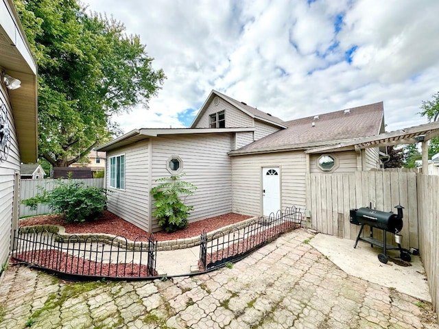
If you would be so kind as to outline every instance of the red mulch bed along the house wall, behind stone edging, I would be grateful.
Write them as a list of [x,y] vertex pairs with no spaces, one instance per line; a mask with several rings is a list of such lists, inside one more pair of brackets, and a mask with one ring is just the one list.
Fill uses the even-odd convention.
[[[239,221],[244,221],[250,217],[251,216],[239,215],[230,212],[226,215],[211,217],[201,221],[195,221],[194,223],[189,223],[188,228],[174,233],[166,233],[164,231],[156,232],[154,233],[154,238],[156,241],[191,238],[200,235],[204,229],[206,229],[207,232],[211,232],[213,230],[217,230],[218,228],[222,228],[233,223],[238,223]],[[104,215],[99,217],[97,221],[86,223],[66,223],[64,215],[40,215],[21,219],[19,221],[20,227],[34,225],[60,225],[64,226],[66,233],[69,234],[103,233],[125,236],[129,240],[134,240],[137,238],[137,236],[149,235],[141,228],[128,223],[128,221],[121,219],[121,217],[116,216],[108,210],[105,210]]]

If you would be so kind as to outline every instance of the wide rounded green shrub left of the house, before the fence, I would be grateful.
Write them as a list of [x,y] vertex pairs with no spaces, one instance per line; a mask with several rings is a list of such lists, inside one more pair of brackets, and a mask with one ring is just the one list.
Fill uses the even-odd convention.
[[65,214],[67,222],[83,222],[97,219],[106,207],[106,190],[96,186],[85,186],[84,182],[68,180],[58,181],[52,191],[42,191],[36,197],[21,203],[32,210],[38,204],[47,204],[55,212]]

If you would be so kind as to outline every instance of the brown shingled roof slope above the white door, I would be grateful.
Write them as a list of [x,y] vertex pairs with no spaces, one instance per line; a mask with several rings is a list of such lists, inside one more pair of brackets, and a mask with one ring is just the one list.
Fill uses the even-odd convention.
[[[317,119],[318,117],[318,119]],[[383,102],[287,121],[286,130],[265,136],[230,155],[305,149],[352,138],[375,136],[384,127]],[[314,123],[314,125],[312,125]]]

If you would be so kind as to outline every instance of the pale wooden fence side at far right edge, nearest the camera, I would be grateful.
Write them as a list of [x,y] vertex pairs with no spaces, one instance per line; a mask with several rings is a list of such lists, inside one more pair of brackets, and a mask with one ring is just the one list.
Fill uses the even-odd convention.
[[439,314],[439,176],[417,175],[419,249],[431,301]]

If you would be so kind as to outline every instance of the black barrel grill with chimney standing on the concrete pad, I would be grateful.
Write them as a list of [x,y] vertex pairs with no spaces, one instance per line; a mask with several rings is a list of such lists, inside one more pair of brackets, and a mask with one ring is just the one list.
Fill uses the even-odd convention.
[[[349,219],[351,223],[361,226],[358,232],[357,240],[355,241],[354,248],[357,247],[357,243],[359,240],[370,243],[371,247],[373,247],[374,245],[381,247],[383,249],[383,254],[379,254],[378,259],[381,263],[384,264],[388,262],[387,251],[390,249],[399,249],[402,260],[405,260],[407,262],[410,262],[410,260],[412,260],[409,252],[401,247],[402,236],[398,234],[403,229],[404,207],[398,205],[394,208],[398,210],[397,214],[394,214],[393,212],[375,210],[372,209],[372,206],[370,206],[370,208],[365,207],[359,209],[351,209],[351,212],[349,214]],[[365,225],[370,226],[370,236],[361,236]],[[383,230],[383,241],[374,238],[374,228]],[[398,247],[387,244],[385,232],[390,232],[395,235],[395,242]]]

